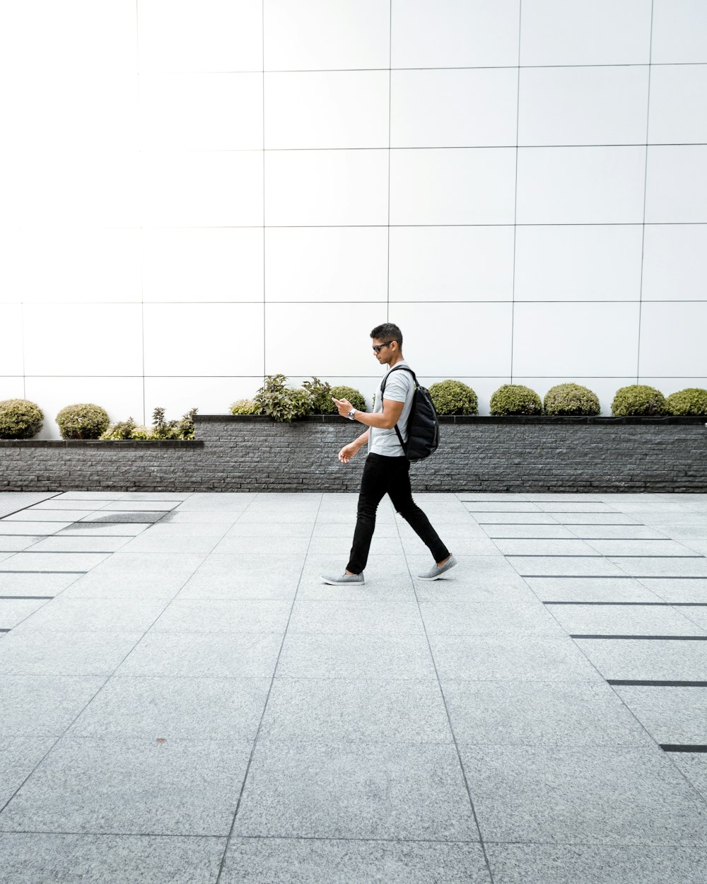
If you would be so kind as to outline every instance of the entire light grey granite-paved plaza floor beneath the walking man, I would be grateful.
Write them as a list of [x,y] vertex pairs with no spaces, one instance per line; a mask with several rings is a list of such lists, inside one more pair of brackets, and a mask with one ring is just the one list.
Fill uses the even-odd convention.
[[707,495],[0,494],[3,884],[707,880]]

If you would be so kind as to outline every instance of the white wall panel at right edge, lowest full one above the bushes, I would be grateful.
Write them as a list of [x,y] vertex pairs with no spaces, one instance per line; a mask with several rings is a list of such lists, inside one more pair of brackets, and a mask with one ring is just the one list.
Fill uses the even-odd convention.
[[641,374],[689,377],[707,373],[705,329],[707,301],[643,304]]

